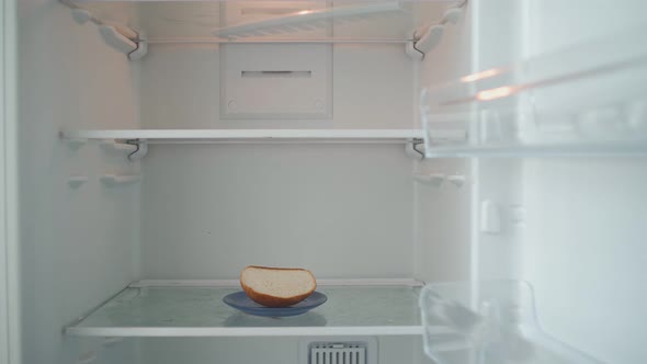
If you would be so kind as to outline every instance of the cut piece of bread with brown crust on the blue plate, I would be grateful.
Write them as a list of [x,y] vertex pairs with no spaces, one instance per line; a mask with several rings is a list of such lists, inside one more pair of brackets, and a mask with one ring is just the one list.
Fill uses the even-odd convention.
[[300,268],[250,265],[240,272],[240,285],[260,305],[287,307],[311,295],[317,281],[310,271]]

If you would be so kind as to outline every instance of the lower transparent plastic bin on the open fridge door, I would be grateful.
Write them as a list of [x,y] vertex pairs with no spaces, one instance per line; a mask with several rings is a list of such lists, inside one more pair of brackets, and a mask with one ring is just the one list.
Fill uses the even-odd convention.
[[442,283],[420,295],[424,352],[439,364],[593,364],[538,326],[530,284]]

